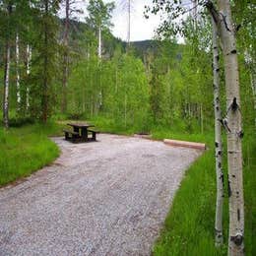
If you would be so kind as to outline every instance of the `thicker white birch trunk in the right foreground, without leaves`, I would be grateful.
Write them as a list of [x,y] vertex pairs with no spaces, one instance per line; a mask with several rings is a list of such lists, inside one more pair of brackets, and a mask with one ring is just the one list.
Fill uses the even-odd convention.
[[229,196],[228,255],[244,255],[244,201],[241,149],[241,110],[236,42],[229,0],[218,0],[219,28],[223,42],[227,108],[227,161]]

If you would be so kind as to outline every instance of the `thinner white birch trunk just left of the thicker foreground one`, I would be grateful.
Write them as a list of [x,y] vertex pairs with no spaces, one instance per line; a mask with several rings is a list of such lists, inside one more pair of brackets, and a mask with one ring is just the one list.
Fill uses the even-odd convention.
[[223,237],[223,205],[224,205],[224,173],[222,166],[223,145],[221,122],[221,102],[220,102],[220,66],[219,66],[219,39],[218,28],[212,18],[213,26],[213,73],[214,73],[214,106],[215,106],[215,154],[216,154],[216,179],[217,179],[217,197],[216,197],[216,219],[215,219],[215,242],[220,246],[224,242]]

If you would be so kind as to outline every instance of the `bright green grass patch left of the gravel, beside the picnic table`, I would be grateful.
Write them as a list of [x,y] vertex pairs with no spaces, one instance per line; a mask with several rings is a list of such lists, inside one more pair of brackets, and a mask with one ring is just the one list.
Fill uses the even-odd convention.
[[47,136],[60,131],[55,124],[26,125],[8,131],[0,127],[0,186],[26,177],[56,159],[59,150]]

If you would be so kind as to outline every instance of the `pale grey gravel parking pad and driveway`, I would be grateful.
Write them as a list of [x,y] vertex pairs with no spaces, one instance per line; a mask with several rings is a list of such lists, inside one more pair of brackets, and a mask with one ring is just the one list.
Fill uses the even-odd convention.
[[59,159],[0,189],[0,255],[150,255],[201,152],[105,134],[88,144],[53,140]]

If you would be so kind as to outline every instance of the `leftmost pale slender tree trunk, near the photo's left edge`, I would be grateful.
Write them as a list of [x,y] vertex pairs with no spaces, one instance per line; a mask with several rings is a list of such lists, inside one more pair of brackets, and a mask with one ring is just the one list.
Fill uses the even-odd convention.
[[4,104],[3,104],[3,121],[5,128],[9,127],[9,74],[10,74],[10,43],[6,43],[6,60],[4,73]]

